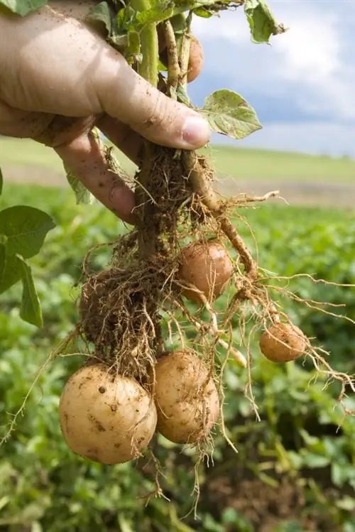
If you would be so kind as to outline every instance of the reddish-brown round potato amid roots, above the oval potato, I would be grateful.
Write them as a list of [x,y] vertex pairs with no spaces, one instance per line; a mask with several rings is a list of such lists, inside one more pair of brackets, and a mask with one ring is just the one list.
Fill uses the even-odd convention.
[[[178,256],[178,278],[201,291],[209,303],[219,297],[233,274],[233,264],[226,248],[216,241],[192,242]],[[185,288],[185,298],[201,303],[197,291]]]

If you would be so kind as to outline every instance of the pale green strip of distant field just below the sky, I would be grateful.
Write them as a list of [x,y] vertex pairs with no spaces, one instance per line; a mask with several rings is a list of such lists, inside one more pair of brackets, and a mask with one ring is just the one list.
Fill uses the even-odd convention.
[[[118,153],[118,152],[117,152]],[[296,180],[315,183],[354,182],[355,161],[349,158],[310,156],[301,153],[252,150],[213,146],[202,151],[212,155],[221,178],[241,180]],[[127,158],[118,153],[125,168],[132,168]],[[50,148],[27,139],[0,139],[0,165],[6,167],[43,166],[63,173],[60,158]],[[35,178],[35,176],[33,176]]]

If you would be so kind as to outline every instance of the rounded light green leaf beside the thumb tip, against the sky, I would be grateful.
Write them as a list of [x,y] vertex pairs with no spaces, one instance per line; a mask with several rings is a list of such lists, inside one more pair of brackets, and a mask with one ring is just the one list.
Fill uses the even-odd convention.
[[239,94],[227,89],[210,94],[200,113],[213,131],[232,139],[244,139],[262,128],[253,107]]

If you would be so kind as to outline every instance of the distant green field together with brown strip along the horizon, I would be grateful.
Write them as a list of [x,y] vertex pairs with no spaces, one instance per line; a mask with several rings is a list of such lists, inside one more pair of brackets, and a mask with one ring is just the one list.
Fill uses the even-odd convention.
[[[134,165],[115,151],[131,173]],[[355,197],[355,161],[214,145],[202,153],[217,170],[217,190],[223,195],[246,192],[261,195],[280,190],[291,205],[351,207]],[[67,186],[60,158],[30,140],[0,138],[4,177],[15,183]]]

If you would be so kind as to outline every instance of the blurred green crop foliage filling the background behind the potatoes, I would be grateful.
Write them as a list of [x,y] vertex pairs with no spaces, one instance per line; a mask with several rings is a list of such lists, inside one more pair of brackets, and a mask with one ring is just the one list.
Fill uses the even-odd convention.
[[[12,203],[4,204],[2,197],[0,207],[21,202],[44,209],[58,227],[32,261],[43,329],[19,318],[17,285],[0,298],[1,435],[50,349],[75,323],[75,284],[87,250],[125,230],[101,207],[74,205],[65,190],[6,188],[6,201],[11,197]],[[355,283],[353,212],[261,205],[240,214],[253,227],[259,261],[267,271]],[[255,251],[246,224],[236,223]],[[98,267],[108,260],[105,249],[95,255]],[[307,278],[284,286],[303,298],[346,303],[346,309],[332,311],[355,319],[354,289]],[[286,298],[283,303],[294,322],[331,352],[329,362],[354,373],[354,325]],[[355,419],[344,418],[336,384],[324,389],[322,376],[310,383],[315,373],[308,362],[277,366],[260,357],[256,347],[253,354],[261,422],[244,398],[245,371],[231,362],[225,375],[225,418],[239,455],[216,435],[213,467],[200,466],[197,519],[189,514],[195,467],[190,450],[163,438],[155,442],[170,502],[153,498],[146,504],[143,496],[154,489],[151,462],[107,467],[67,449],[58,401],[81,360],[56,359],[40,376],[16,431],[0,447],[0,531],[355,532]],[[355,408],[354,397],[346,401]]]

